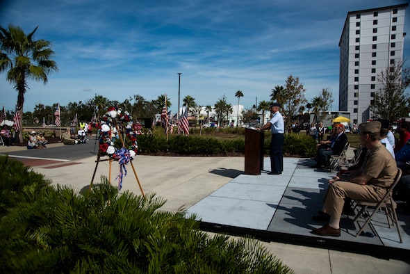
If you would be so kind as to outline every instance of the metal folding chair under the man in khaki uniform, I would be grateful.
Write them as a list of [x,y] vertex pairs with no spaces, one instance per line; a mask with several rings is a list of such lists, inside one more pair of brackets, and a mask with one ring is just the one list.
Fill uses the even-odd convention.
[[[363,216],[363,218],[366,220],[366,223],[362,225],[361,229],[356,233],[356,237],[363,231],[363,229],[370,223],[370,220],[372,220],[373,216],[375,216],[375,213],[379,211],[379,209],[384,209],[384,213],[386,214],[387,218],[387,223],[388,223],[388,228],[391,228],[391,225],[396,225],[397,228],[397,234],[399,234],[400,238],[400,243],[402,243],[402,234],[400,233],[400,227],[398,224],[397,220],[397,213],[395,209],[397,208],[396,202],[393,200],[393,189],[397,185],[397,183],[400,181],[400,178],[402,177],[402,170],[400,168],[397,168],[397,175],[394,179],[393,184],[391,184],[390,188],[388,188],[386,195],[384,195],[384,198],[380,200],[380,202],[369,202],[365,200],[355,200],[356,206],[361,207],[361,210],[359,213],[357,213],[356,217],[354,217],[354,221],[358,220],[360,216],[363,215],[364,211],[366,211],[369,207],[374,207],[373,212],[370,216],[366,218],[366,216]],[[390,225],[390,220],[391,220],[391,225]]]

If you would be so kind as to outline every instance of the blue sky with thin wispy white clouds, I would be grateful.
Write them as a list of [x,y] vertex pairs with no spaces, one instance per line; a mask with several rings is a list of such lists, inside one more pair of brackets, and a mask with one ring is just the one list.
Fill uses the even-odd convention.
[[[36,104],[85,102],[96,94],[123,102],[167,94],[213,105],[223,95],[252,108],[274,86],[299,76],[306,99],[322,88],[338,110],[338,42],[350,11],[392,6],[388,0],[2,0],[0,25],[20,26],[52,42],[59,72],[28,81],[24,111]],[[406,10],[404,58],[410,55]],[[405,64],[409,66],[409,64]],[[12,110],[17,92],[0,74],[0,104]],[[0,106],[1,107],[1,106]]]

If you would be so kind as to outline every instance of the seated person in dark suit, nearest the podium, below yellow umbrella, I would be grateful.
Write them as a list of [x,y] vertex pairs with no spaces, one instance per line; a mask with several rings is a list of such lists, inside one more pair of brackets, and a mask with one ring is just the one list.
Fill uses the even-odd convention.
[[316,165],[313,168],[323,168],[329,166],[329,159],[331,155],[339,155],[345,148],[347,143],[347,136],[345,134],[345,127],[343,124],[336,125],[336,140],[326,149],[318,150],[316,155]]

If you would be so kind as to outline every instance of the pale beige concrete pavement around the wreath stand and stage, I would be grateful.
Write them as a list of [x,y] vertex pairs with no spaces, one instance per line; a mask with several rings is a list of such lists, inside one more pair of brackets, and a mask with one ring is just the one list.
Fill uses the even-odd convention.
[[[52,145],[54,144],[49,147]],[[13,157],[13,149],[18,148],[9,147],[7,153]],[[0,154],[5,149],[6,147],[0,147]],[[32,168],[44,174],[47,179],[51,179],[53,184],[69,185],[80,191],[90,185],[97,166],[96,160],[97,156],[90,156],[79,161],[43,163]],[[245,164],[243,157],[137,156],[133,166],[144,193],[156,193],[167,200],[164,209],[177,211],[192,207],[243,174]],[[100,176],[104,175],[110,176],[112,184],[116,185],[115,177],[119,170],[117,162],[110,165],[108,161],[100,161],[94,183],[99,183]],[[122,192],[129,190],[140,194],[131,165],[126,166],[126,170]],[[295,273],[410,273],[410,264],[406,261],[378,259],[367,255],[287,243],[260,243],[284,264],[293,268]]]

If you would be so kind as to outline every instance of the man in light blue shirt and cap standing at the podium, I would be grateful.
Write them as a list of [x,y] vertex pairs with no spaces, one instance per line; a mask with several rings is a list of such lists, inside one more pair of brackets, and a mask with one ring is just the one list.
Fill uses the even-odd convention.
[[280,104],[270,105],[272,118],[261,127],[261,130],[270,129],[272,138],[270,139],[270,175],[279,175],[284,170],[284,140],[285,123],[284,117],[279,112]]

